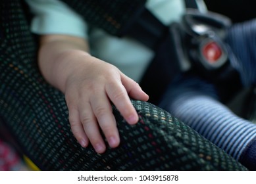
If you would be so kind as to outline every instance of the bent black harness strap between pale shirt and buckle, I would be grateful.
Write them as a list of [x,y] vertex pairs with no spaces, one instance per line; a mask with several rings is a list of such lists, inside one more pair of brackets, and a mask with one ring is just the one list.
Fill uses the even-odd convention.
[[174,55],[171,48],[174,47],[174,41],[170,29],[145,9],[126,35],[143,43],[155,53],[140,85],[149,95],[149,102],[157,104],[168,83],[180,72],[176,62],[172,61]]

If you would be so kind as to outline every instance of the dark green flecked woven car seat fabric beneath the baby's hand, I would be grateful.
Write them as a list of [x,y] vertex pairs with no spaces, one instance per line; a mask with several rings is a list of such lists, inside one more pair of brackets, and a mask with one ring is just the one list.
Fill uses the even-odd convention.
[[0,14],[0,116],[41,170],[246,170],[190,127],[141,101],[132,100],[140,115],[135,126],[113,106],[118,148],[104,154],[83,149],[70,131],[64,95],[39,73],[37,45],[20,1],[3,1]]

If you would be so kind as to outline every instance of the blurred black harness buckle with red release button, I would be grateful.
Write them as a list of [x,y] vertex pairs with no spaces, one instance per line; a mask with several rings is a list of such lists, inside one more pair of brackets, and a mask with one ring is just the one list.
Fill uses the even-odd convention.
[[233,73],[230,73],[232,66],[224,43],[226,30],[231,26],[230,19],[215,12],[188,9],[180,24],[184,55],[190,61],[190,70],[211,81],[227,80],[226,77]]

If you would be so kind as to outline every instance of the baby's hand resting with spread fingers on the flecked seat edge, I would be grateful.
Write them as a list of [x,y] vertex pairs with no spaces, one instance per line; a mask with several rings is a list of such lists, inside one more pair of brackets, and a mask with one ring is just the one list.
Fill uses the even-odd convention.
[[76,55],[73,71],[66,80],[64,93],[74,137],[82,147],[91,143],[96,152],[103,153],[106,145],[101,129],[109,146],[117,147],[120,138],[111,102],[132,125],[138,122],[138,114],[130,97],[147,101],[148,95],[118,68],[90,55]]

